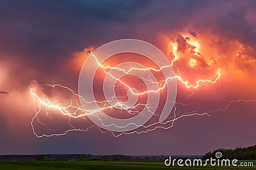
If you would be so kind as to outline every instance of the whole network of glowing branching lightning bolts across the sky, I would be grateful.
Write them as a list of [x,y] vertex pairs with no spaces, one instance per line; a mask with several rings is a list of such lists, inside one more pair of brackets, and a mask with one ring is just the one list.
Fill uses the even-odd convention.
[[[194,55],[197,56],[201,56],[199,53],[199,44],[193,41],[190,41],[189,39],[186,39],[186,42],[192,47],[191,50],[193,51]],[[187,89],[192,89],[192,94],[190,94],[188,97],[193,95],[193,89],[197,89],[198,87],[201,87],[202,85],[205,85],[207,83],[216,83],[220,77],[221,77],[221,73],[220,73],[220,69],[217,69],[216,74],[214,74],[213,76],[211,76],[208,79],[199,79],[196,80],[195,83],[190,83],[189,81],[186,80],[186,76],[182,75],[180,73],[180,69],[179,67],[175,66],[175,61],[180,59],[180,56],[178,55],[178,46],[177,43],[172,43],[172,52],[173,52],[173,56],[174,59],[170,61],[170,65],[168,66],[163,66],[160,67],[158,69],[154,68],[154,67],[147,67],[145,69],[141,69],[141,68],[137,68],[137,67],[131,67],[129,69],[121,69],[119,67],[111,67],[111,66],[104,66],[103,64],[101,64],[99,62],[99,60],[97,59],[97,56],[95,56],[91,50],[86,50],[86,52],[88,52],[88,54],[90,56],[93,57],[93,59],[95,59],[95,64],[97,64],[97,66],[99,66],[102,71],[104,71],[104,73],[108,74],[111,78],[113,78],[113,80],[118,81],[121,85],[123,85],[127,90],[129,90],[133,95],[137,95],[137,96],[143,96],[144,94],[149,94],[149,93],[156,93],[159,92],[163,89],[166,88],[166,84],[168,83],[168,81],[171,81],[173,79],[179,80],[179,82],[184,85],[184,87],[186,87]],[[220,57],[224,57],[224,56],[218,56],[212,60],[210,60],[208,62],[208,65],[210,66],[213,62],[215,62],[215,60],[219,59]],[[196,67],[196,59],[192,59],[190,60],[189,65],[191,67]],[[164,80],[161,81],[152,81],[152,80],[148,80],[151,81],[151,83],[155,83],[158,85],[158,89],[154,89],[154,90],[146,90],[144,92],[137,92],[134,91],[134,89],[132,89],[132,87],[130,87],[129,85],[127,85],[127,83],[125,83],[125,81],[120,80],[119,78],[117,78],[114,74],[111,74],[108,70],[109,69],[116,69],[118,71],[122,71],[125,74],[129,74],[131,73],[131,71],[154,71],[154,72],[161,72],[163,71],[163,69],[170,69],[171,67],[175,68],[176,74],[175,76],[172,77],[167,77]],[[184,78],[185,77],[185,78]],[[127,106],[125,104],[122,103],[115,103],[114,105],[109,105],[109,101],[111,101],[113,99],[110,98],[106,101],[86,101],[85,99],[83,99],[83,97],[79,96],[78,94],[76,94],[72,89],[69,89],[68,87],[65,87],[63,85],[58,85],[58,84],[54,84],[54,85],[44,85],[47,87],[50,87],[51,89],[54,90],[54,92],[56,92],[56,96],[47,96],[46,94],[44,94],[44,92],[40,91],[40,87],[42,85],[38,85],[35,82],[35,87],[29,87],[31,95],[33,96],[33,110],[35,111],[35,117],[32,118],[31,120],[31,126],[33,128],[33,132],[36,135],[37,138],[41,138],[41,137],[51,137],[51,136],[63,136],[65,134],[67,134],[68,132],[72,132],[72,131],[89,131],[91,129],[93,129],[93,127],[97,127],[96,125],[91,125],[90,127],[86,127],[86,128],[76,128],[75,125],[72,124],[71,120],[74,120],[76,118],[86,118],[86,115],[94,115],[95,113],[99,113],[100,111],[108,111],[108,110],[113,110],[113,108],[115,108],[116,106],[118,106],[119,108],[121,108],[121,110],[125,110],[127,111],[129,114],[133,115],[134,112],[138,113],[137,108],[143,106],[145,108],[150,108],[150,104],[135,104],[134,106]],[[69,92],[71,95],[71,97],[69,97],[68,99],[63,99],[61,97],[60,92],[56,89],[56,87],[67,90],[67,92]],[[39,88],[39,89],[38,89]],[[89,104],[89,103],[97,103],[97,104],[102,104],[102,107],[99,107],[98,109],[95,110],[86,110],[83,109],[83,107],[81,106],[81,104],[79,104],[79,99],[82,100],[85,104]],[[231,103],[234,102],[255,102],[256,99],[254,100],[237,100],[237,101],[230,101],[230,103],[227,104],[227,106],[223,109],[218,109],[214,112],[218,112],[218,111],[223,111],[223,110],[227,110],[228,107],[230,106]],[[140,127],[140,131],[138,131],[138,129],[136,131],[131,131],[131,132],[120,132],[118,134],[116,134],[115,132],[111,132],[111,131],[103,131],[102,129],[99,128],[99,130],[101,132],[111,132],[113,134],[113,136],[118,137],[122,134],[141,134],[141,133],[145,133],[145,132],[149,132],[149,131],[154,131],[156,129],[170,129],[173,127],[173,123],[176,120],[179,120],[180,118],[183,117],[190,117],[190,116],[203,116],[203,115],[207,115],[207,116],[211,116],[209,113],[198,113],[197,111],[191,111],[188,113],[183,113],[180,116],[177,116],[177,105],[181,104],[182,106],[185,106],[186,104],[182,104],[182,103],[175,103],[174,105],[174,110],[173,110],[173,117],[171,118],[171,120],[167,120],[165,122],[154,122],[152,124],[149,125],[143,125]],[[36,132],[35,129],[35,122],[37,122],[40,125],[43,125],[44,127],[46,127],[46,125],[40,121],[40,118],[38,117],[38,115],[40,115],[40,113],[42,112],[42,109],[45,110],[47,117],[51,118],[51,114],[50,111],[58,111],[58,113],[60,113],[61,115],[68,117],[68,124],[70,129],[68,129],[65,132],[62,133],[54,133],[54,134],[38,134]],[[103,123],[102,123],[103,124]],[[139,126],[138,126],[139,127]]]

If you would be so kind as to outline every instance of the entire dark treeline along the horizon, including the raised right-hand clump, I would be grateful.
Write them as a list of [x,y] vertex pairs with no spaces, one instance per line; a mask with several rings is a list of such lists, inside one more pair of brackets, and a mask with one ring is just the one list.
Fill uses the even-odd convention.
[[[246,148],[218,149],[213,152],[205,153],[204,156],[172,156],[176,159],[215,159],[216,152],[221,152],[220,159],[256,160],[256,145]],[[90,155],[90,154],[43,154],[43,155],[0,155],[0,161],[163,161],[169,155]]]

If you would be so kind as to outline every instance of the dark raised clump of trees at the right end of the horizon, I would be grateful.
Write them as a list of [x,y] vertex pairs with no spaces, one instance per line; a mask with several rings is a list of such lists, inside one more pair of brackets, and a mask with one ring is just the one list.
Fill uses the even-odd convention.
[[215,158],[215,153],[221,152],[221,159],[239,159],[239,160],[256,160],[256,145],[246,148],[231,149],[218,149],[214,152],[205,153],[203,159],[209,159],[210,157]]

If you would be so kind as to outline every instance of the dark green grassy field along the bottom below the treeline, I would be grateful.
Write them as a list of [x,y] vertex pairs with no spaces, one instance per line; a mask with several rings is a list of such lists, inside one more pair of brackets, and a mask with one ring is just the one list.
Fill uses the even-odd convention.
[[[255,161],[254,165],[255,165]],[[137,169],[256,169],[256,167],[165,167],[163,162],[107,162],[107,161],[31,161],[31,162],[0,162],[0,169],[93,169],[93,170],[137,170]]]

